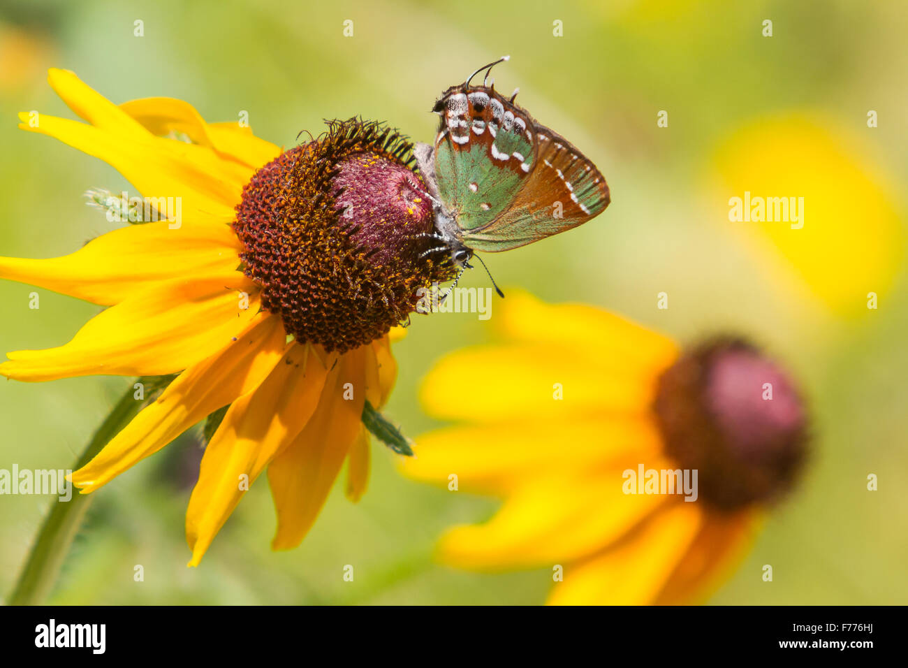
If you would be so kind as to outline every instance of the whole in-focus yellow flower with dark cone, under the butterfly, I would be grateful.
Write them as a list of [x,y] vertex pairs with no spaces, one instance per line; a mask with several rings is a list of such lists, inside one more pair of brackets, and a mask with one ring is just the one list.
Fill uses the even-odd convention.
[[432,209],[410,144],[351,119],[281,151],[179,100],[114,105],[71,72],[49,81],[87,124],[33,113],[20,127],[113,165],[143,201],[95,200],[143,224],[65,257],[0,258],[2,278],[105,307],[68,344],[9,353],[0,374],[177,374],[74,484],[94,492],[217,414],[186,515],[190,564],[266,469],[272,545],[299,544],[345,460],[348,495],[362,494],[360,416],[390,393],[390,329],[452,273],[423,254]]

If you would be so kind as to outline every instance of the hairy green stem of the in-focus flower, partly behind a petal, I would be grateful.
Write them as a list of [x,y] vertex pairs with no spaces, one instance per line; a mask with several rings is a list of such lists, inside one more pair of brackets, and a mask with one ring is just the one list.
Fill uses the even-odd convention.
[[[156,379],[149,380],[150,383],[145,384],[145,391],[151,395],[158,388],[153,387]],[[143,401],[135,399],[133,387],[130,386],[104,420],[104,424],[94,433],[73,470],[82,468],[95,454],[100,453],[104,445],[129,424],[143,405]],[[44,519],[41,532],[38,533],[32,552],[29,553],[25,567],[7,602],[9,605],[38,605],[44,602],[56,583],[60,568],[76,533],[79,532],[79,527],[82,526],[85,512],[93,497],[94,494],[73,494],[68,502],[51,503],[51,512]]]

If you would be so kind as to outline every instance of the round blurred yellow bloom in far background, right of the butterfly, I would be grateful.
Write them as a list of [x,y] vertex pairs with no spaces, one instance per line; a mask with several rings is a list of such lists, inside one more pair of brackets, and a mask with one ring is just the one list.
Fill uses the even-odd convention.
[[834,313],[851,316],[866,313],[869,294],[892,288],[905,241],[893,187],[859,147],[852,133],[808,115],[766,117],[725,139],[712,175],[718,219],[733,197],[803,202],[798,221],[748,216],[730,224],[761,264],[777,268],[770,274],[780,291],[804,284]]

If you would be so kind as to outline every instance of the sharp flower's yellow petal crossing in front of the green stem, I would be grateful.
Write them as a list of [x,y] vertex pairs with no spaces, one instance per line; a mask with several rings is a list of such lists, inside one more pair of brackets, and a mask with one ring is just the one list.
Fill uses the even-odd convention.
[[286,348],[280,318],[262,312],[235,342],[180,374],[94,459],[73,474],[84,494],[156,453],[222,406],[252,392]]

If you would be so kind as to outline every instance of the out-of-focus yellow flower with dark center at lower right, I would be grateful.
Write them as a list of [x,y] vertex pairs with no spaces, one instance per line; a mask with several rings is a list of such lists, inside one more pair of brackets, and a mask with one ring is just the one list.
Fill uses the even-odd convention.
[[802,464],[787,374],[735,339],[682,351],[617,315],[523,294],[498,325],[505,343],[429,373],[426,409],[462,424],[419,437],[401,463],[503,499],[487,523],[449,530],[441,561],[553,569],[549,603],[702,600]]

